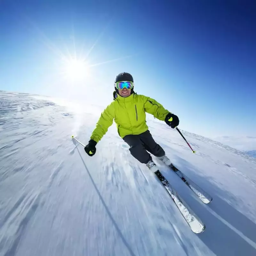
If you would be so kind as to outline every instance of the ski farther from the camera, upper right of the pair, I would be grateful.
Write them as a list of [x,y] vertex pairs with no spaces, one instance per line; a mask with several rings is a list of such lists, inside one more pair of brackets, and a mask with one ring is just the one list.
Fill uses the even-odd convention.
[[212,197],[207,194],[202,188],[197,186],[192,180],[188,179],[188,177],[180,172],[178,168],[176,168],[173,164],[168,165],[172,171],[174,171],[181,180],[183,180],[188,187],[196,194],[196,196],[199,197],[199,199],[204,203],[204,204],[209,204],[212,201]]

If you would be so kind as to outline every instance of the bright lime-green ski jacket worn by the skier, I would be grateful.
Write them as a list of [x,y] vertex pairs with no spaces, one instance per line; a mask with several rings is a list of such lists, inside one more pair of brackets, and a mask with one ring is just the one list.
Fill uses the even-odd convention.
[[108,131],[108,127],[113,124],[113,120],[121,138],[128,134],[138,135],[146,132],[148,126],[145,112],[154,115],[161,121],[164,121],[165,116],[171,113],[156,100],[144,95],[133,93],[124,98],[117,94],[116,99],[101,113],[91,139],[98,143]]

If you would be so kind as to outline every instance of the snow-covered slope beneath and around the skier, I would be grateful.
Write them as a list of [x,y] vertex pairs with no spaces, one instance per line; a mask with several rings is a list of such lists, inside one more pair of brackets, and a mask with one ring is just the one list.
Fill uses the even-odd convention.
[[203,204],[158,163],[204,222],[195,234],[115,124],[93,157],[71,139],[86,144],[101,110],[0,91],[0,256],[256,255],[256,159],[181,130],[193,154],[175,129],[148,116],[172,163],[213,198]]

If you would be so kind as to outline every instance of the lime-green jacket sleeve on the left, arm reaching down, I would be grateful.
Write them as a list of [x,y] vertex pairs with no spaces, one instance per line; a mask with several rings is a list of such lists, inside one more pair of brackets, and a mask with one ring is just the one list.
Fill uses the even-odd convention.
[[102,139],[103,135],[108,131],[108,127],[113,124],[114,113],[113,104],[110,104],[105,108],[100,115],[96,128],[92,132],[91,140],[95,140],[98,143]]

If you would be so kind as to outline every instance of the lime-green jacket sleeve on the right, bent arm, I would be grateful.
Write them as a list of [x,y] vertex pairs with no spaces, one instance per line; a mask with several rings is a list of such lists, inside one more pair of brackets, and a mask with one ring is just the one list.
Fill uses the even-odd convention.
[[164,121],[165,116],[168,113],[171,113],[167,109],[165,109],[160,103],[156,100],[151,99],[147,96],[143,96],[144,109],[147,113],[152,114],[157,119]]

